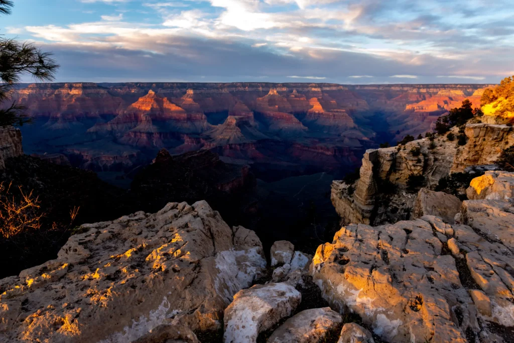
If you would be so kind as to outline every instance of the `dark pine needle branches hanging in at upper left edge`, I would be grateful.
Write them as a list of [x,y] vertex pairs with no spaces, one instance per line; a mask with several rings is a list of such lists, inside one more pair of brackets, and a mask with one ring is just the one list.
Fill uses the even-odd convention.
[[[13,6],[11,0],[0,0],[0,14],[11,14]],[[0,37],[0,102],[10,99],[11,88],[22,75],[30,74],[36,81],[51,81],[57,68],[59,65],[52,59],[52,54],[41,51],[33,43]],[[0,109],[0,126],[30,122],[23,114],[24,109],[15,102]]]

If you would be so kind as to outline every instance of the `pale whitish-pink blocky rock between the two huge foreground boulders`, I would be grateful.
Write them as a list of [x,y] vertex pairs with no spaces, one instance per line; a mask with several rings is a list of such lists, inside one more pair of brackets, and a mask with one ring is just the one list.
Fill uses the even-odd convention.
[[300,292],[286,283],[255,285],[238,292],[225,310],[225,343],[256,342],[260,332],[290,316],[301,300]]

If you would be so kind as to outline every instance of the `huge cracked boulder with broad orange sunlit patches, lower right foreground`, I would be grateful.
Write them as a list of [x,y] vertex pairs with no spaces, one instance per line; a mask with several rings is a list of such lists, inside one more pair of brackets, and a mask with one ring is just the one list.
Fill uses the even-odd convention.
[[[451,236],[463,258],[450,255],[445,240]],[[433,216],[378,227],[349,225],[332,244],[318,247],[311,273],[333,309],[359,314],[383,340],[492,337],[488,322],[514,326],[514,254],[484,236]],[[488,299],[473,294],[475,305],[471,290],[488,297],[490,316],[484,315]]]

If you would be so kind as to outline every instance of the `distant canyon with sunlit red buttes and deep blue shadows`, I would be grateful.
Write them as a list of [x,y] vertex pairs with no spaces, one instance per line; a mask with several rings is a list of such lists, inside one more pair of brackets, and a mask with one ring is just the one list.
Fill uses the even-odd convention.
[[[63,154],[72,166],[130,173],[158,150],[198,149],[253,165],[277,180],[360,165],[366,149],[431,130],[480,84],[42,83],[13,89],[27,107],[30,154]],[[119,175],[118,175],[119,176]]]

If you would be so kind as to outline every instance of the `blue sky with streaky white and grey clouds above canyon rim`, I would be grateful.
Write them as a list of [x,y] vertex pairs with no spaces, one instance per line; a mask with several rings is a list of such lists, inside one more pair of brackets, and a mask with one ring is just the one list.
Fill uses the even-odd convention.
[[[513,0],[14,0],[56,82],[498,83]],[[24,82],[32,81],[29,77]]]

